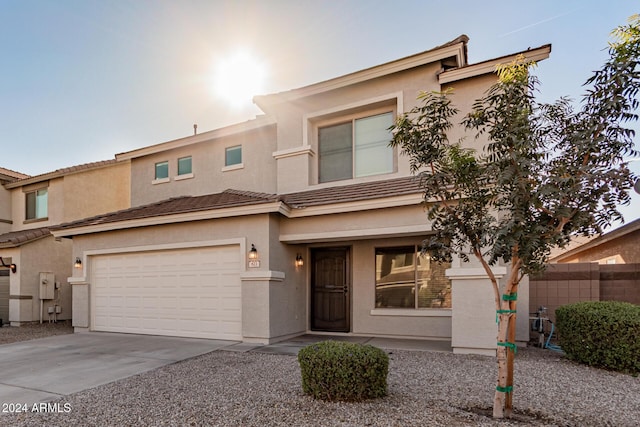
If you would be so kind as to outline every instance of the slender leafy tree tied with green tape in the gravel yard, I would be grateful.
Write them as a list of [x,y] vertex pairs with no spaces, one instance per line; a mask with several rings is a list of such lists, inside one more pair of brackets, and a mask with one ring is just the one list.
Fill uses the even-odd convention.
[[[640,16],[612,33],[609,59],[587,80],[581,108],[534,97],[535,65],[518,58],[461,125],[485,138],[480,152],[451,143],[459,111],[451,90],[422,93],[422,104],[398,118],[391,144],[420,179],[434,234],[423,250],[440,261],[475,257],[493,285],[498,318],[498,379],[493,415],[512,412],[518,285],[545,268],[550,250],[572,236],[602,233],[622,220],[636,177],[634,131],[640,89]],[[491,266],[508,265],[501,287]]]

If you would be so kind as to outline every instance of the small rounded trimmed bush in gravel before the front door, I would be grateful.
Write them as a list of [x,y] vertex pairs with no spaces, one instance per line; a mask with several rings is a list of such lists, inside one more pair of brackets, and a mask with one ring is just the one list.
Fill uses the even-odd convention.
[[389,356],[371,345],[322,341],[298,352],[302,390],[316,399],[360,401],[386,396]]

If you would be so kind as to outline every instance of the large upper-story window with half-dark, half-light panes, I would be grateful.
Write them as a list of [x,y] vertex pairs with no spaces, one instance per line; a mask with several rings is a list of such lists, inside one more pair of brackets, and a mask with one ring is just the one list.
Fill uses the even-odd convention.
[[320,127],[318,181],[393,172],[392,125],[393,113],[389,112]]

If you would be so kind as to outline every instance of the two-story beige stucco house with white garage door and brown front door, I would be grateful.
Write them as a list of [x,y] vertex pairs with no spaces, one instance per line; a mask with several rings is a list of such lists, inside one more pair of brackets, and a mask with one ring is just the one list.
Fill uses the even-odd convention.
[[53,228],[82,260],[69,278],[75,330],[256,343],[350,333],[495,354],[486,275],[420,256],[422,192],[389,147],[420,91],[453,87],[464,113],[515,58],[468,65],[467,40],[258,96],[264,116],[117,154],[131,163],[132,207]]

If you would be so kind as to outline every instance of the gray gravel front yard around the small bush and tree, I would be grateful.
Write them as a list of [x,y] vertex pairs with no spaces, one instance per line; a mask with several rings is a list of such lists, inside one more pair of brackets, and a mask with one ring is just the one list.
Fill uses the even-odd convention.
[[516,414],[508,421],[490,417],[493,358],[389,352],[389,395],[374,401],[305,396],[293,356],[216,351],[66,396],[53,402],[60,413],[0,415],[0,425],[640,425],[640,378],[580,366],[549,351],[518,351]]

